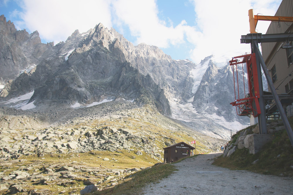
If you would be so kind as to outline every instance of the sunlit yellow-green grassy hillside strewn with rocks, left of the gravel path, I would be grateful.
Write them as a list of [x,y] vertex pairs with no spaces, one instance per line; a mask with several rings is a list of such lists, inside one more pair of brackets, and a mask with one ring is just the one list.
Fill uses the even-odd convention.
[[[12,164],[11,162],[1,164],[0,171],[3,177],[8,177],[13,171],[28,173],[30,177],[22,180],[21,183],[23,189],[26,190],[24,194],[45,194],[49,191],[52,195],[57,195],[61,192],[64,195],[79,194],[79,191],[86,187],[84,182],[97,184],[99,189],[103,189],[103,191],[97,192],[100,194],[137,194],[139,189],[147,183],[158,182],[176,170],[172,164],[160,164],[152,168],[146,168],[162,161],[162,149],[164,147],[181,141],[190,143],[193,140],[197,140],[197,154],[211,150],[206,148],[206,141],[202,139],[201,135],[195,134],[180,124],[162,116],[151,106],[135,108],[132,111],[123,113],[123,117],[119,118],[91,120],[75,118],[66,126],[52,127],[50,131],[52,130],[52,133],[58,131],[59,135],[59,132],[60,134],[65,132],[70,134],[75,130],[81,132],[84,129],[88,129],[89,132],[95,134],[99,133],[102,128],[107,130],[109,128],[121,128],[134,136],[143,135],[148,142],[141,141],[139,144],[130,144],[131,148],[129,150],[100,151],[93,149],[84,153],[70,152],[71,150],[57,153],[54,147],[47,145],[40,147],[39,152],[39,148],[34,149],[32,147],[27,151],[28,156],[20,156],[17,160],[14,159]],[[36,137],[37,132],[47,133],[49,130],[26,131],[16,129],[16,131],[17,134],[13,133],[13,136],[18,139],[13,140],[14,142],[26,139],[26,136]],[[70,134],[70,137],[74,140],[87,138],[84,133]],[[127,141],[132,143],[133,139],[138,138],[129,137]],[[30,142],[30,140],[26,140],[27,143]],[[152,150],[149,149],[149,146],[152,146]],[[47,147],[50,149],[50,153],[48,150],[47,152],[42,152],[42,149]],[[145,149],[149,149],[150,152],[145,151]],[[137,155],[137,151],[141,151],[142,155]],[[109,160],[104,161],[103,158],[108,158]],[[58,171],[62,166],[70,167],[71,169],[62,172]],[[132,168],[142,170],[130,175],[131,172],[128,170]],[[13,179],[13,181],[17,183],[20,180]],[[34,191],[30,191],[32,189]],[[9,190],[2,190],[0,194],[8,192]]]

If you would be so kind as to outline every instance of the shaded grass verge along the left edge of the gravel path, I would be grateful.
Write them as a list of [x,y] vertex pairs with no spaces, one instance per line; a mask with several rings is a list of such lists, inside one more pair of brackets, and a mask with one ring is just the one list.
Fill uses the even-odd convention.
[[115,187],[97,191],[95,194],[140,194],[144,186],[157,183],[176,170],[172,164],[155,165],[125,177],[123,183],[117,184]]

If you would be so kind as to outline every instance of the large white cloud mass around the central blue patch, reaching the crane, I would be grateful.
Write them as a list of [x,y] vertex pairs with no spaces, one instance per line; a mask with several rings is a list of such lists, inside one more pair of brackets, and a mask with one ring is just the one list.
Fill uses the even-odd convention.
[[[156,1],[123,1],[113,3],[113,9],[120,25],[127,25],[132,36],[137,37],[135,44],[144,42],[161,48],[176,46],[185,41],[194,45],[190,58],[199,63],[206,56],[231,58],[250,52],[249,44],[240,44],[240,37],[249,33],[248,10],[274,15],[281,0],[194,0],[197,26],[188,26],[183,20],[179,25],[167,27],[159,20]],[[253,6],[253,7],[252,7]],[[118,21],[118,20],[116,20]],[[265,34],[270,23],[259,22],[258,32]],[[122,28],[122,27],[121,27]],[[187,40],[184,39],[186,37]],[[223,59],[224,59],[223,58]]]

